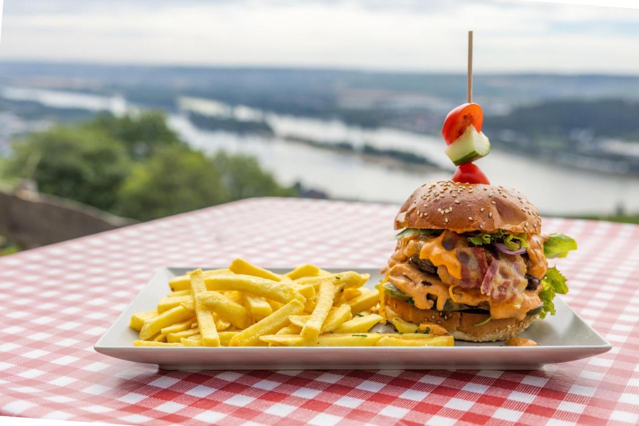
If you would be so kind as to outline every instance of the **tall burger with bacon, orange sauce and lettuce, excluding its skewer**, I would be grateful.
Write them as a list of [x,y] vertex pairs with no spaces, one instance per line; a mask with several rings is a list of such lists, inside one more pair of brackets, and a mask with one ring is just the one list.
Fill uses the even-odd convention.
[[555,314],[555,294],[568,291],[548,259],[576,242],[543,234],[537,208],[516,190],[426,183],[401,206],[395,229],[378,287],[385,321],[441,326],[459,340],[505,340]]

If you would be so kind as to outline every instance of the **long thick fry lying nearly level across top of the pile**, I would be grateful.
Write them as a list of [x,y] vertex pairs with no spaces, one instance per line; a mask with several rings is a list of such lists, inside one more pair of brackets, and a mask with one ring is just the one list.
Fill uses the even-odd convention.
[[277,282],[252,275],[214,275],[206,278],[206,288],[210,291],[238,290],[281,303],[293,299],[306,301],[293,282]]

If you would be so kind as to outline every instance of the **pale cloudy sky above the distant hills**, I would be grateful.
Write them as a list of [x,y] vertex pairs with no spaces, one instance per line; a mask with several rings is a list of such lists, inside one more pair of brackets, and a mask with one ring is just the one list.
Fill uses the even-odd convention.
[[518,0],[6,0],[0,61],[639,74],[639,10]]

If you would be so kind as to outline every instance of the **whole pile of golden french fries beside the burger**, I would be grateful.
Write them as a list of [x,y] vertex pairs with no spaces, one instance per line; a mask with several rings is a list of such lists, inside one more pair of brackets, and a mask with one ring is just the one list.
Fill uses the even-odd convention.
[[[312,264],[283,275],[243,259],[169,280],[155,310],[138,312],[134,346],[452,346],[437,324],[391,319],[399,333],[373,333],[377,291],[368,274],[332,273]],[[373,329],[375,330],[375,329]],[[190,350],[190,349],[189,349]]]

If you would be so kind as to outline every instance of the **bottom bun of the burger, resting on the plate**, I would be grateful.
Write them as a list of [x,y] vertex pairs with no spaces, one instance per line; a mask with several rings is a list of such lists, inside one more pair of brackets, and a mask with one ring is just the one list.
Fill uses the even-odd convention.
[[521,321],[516,318],[491,319],[481,326],[474,324],[486,321],[488,314],[466,314],[459,311],[440,312],[435,309],[419,309],[415,305],[385,295],[385,314],[387,319],[400,317],[410,323],[436,323],[448,330],[452,337],[470,342],[495,342],[515,337],[526,330],[537,317],[529,315]]

